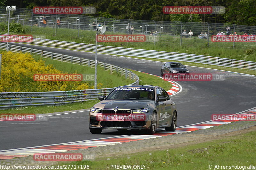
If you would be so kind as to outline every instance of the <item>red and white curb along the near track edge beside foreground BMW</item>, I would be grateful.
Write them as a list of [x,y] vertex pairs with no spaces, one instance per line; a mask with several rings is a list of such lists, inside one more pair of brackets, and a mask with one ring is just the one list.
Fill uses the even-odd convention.
[[72,150],[88,149],[92,147],[116,145],[116,144],[122,144],[126,142],[132,142],[132,141],[138,141],[138,140],[144,140],[144,139],[150,139],[150,138],[158,138],[158,137],[168,136],[168,135],[176,135],[176,134],[187,133],[191,131],[199,131],[201,129],[207,129],[207,128],[219,126],[222,124],[229,124],[232,122],[241,121],[248,117],[255,117],[256,109],[255,108],[249,109],[240,113],[236,113],[234,115],[239,115],[239,116],[242,116],[243,118],[236,118],[236,119],[230,118],[230,120],[223,120],[223,118],[221,118],[213,121],[206,121],[206,122],[201,122],[197,124],[180,126],[174,132],[160,130],[160,131],[157,131],[154,135],[123,135],[123,136],[110,137],[110,138],[77,141],[73,143],[5,150],[5,151],[0,151],[0,159],[13,159],[17,157],[27,157],[27,156],[32,156],[35,153],[43,154],[43,153],[55,153],[55,152],[67,152]]

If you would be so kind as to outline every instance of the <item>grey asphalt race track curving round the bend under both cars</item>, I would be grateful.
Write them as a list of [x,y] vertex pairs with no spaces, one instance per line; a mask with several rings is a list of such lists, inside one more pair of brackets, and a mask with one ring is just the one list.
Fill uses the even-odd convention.
[[[10,43],[15,44],[15,43]],[[21,45],[19,43],[19,45]],[[55,53],[94,60],[94,53],[22,44]],[[98,54],[98,60],[124,68],[160,75],[162,62]],[[172,96],[177,104],[178,126],[211,120],[212,114],[238,113],[255,107],[256,76],[187,66],[190,73],[224,74],[225,81],[177,81],[183,90]],[[84,73],[82,73],[84,74]],[[159,79],[160,80],[160,79]],[[56,110],[58,112],[58,110]],[[50,145],[73,141],[141,133],[138,131],[103,130],[91,134],[88,111],[50,116],[48,121],[1,121],[0,150]]]

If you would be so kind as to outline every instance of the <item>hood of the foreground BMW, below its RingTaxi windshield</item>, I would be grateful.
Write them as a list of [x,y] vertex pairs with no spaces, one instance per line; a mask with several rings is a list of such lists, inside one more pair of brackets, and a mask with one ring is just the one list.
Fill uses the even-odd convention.
[[95,104],[93,107],[98,109],[143,109],[152,103],[155,103],[155,101],[153,100],[103,100]]

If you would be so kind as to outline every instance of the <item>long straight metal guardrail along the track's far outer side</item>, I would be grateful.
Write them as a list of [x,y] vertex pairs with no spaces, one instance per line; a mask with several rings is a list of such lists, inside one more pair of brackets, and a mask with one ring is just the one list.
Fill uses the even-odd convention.
[[[84,51],[95,51],[95,45],[93,44],[83,44],[83,43],[51,40],[51,39],[35,38],[33,39],[33,42],[29,42],[28,44],[79,49]],[[145,57],[145,58],[187,61],[187,62],[202,63],[202,64],[209,64],[209,65],[256,70],[256,62],[253,62],[253,61],[234,60],[234,59],[211,57],[211,56],[205,56],[205,55],[173,53],[173,52],[166,52],[166,51],[123,48],[123,47],[114,47],[114,46],[99,46],[99,45],[98,45],[98,52],[108,53],[108,54],[117,54],[117,55],[126,55],[126,56]]]

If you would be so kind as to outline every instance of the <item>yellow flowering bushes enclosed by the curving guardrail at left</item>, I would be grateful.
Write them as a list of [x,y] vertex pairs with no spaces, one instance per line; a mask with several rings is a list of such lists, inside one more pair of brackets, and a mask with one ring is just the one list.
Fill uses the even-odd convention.
[[[29,53],[2,53],[0,92],[66,91],[93,89],[82,81],[34,81],[34,74],[61,74],[53,65],[36,61]],[[98,88],[102,84],[99,83]]]

